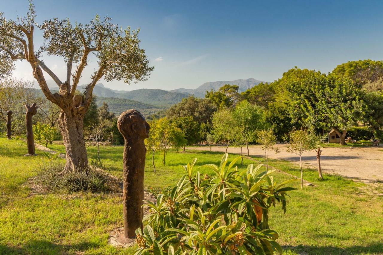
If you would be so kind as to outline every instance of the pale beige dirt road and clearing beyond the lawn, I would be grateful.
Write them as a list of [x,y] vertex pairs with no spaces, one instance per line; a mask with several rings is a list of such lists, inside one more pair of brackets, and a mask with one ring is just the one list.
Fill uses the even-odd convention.
[[[299,164],[299,156],[286,152],[287,145],[276,145],[280,152],[269,152],[269,158],[284,159]],[[193,150],[209,150],[209,147],[191,147]],[[226,147],[212,146],[213,151],[224,152]],[[243,149],[245,152],[246,148]],[[241,148],[229,147],[229,153],[240,153]],[[260,145],[249,146],[249,154],[264,157]],[[316,153],[306,152],[302,156],[304,165],[317,167]],[[324,173],[336,173],[363,182],[383,181],[383,147],[323,148],[321,166]]]

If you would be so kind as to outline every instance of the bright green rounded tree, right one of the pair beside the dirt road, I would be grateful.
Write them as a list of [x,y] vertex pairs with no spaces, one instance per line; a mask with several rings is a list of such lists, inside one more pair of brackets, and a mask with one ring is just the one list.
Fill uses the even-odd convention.
[[249,156],[249,142],[254,142],[257,131],[266,126],[264,108],[243,100],[234,108],[233,119],[233,124],[238,127],[239,140],[246,144],[247,156]]

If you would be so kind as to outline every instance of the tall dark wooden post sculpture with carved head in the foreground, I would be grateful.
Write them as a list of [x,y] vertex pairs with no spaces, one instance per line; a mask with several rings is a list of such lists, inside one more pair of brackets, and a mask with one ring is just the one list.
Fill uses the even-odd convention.
[[149,137],[150,126],[139,111],[128,110],[119,116],[117,127],[125,140],[123,156],[124,237],[135,238],[136,229],[142,229],[146,155],[144,139]]

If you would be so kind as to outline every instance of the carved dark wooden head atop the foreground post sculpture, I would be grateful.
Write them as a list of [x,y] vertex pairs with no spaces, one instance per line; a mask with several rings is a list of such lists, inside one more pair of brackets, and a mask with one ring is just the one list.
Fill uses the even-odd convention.
[[117,120],[117,127],[125,138],[146,139],[149,137],[149,124],[139,111],[133,109],[121,113]]

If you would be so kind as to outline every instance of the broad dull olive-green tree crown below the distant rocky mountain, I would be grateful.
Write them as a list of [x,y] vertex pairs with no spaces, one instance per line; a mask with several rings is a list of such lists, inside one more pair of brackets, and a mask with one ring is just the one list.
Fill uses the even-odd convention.
[[169,119],[192,116],[194,121],[201,125],[211,123],[211,117],[216,109],[216,106],[208,99],[188,96],[171,106],[166,111],[166,116]]

